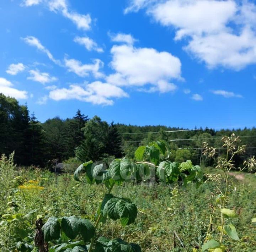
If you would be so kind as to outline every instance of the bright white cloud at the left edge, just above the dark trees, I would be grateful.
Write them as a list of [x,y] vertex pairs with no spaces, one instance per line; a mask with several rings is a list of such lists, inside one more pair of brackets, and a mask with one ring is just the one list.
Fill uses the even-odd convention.
[[27,91],[21,91],[16,88],[12,87],[13,84],[6,80],[5,78],[0,77],[0,93],[14,97],[16,99],[27,99],[28,98],[28,92]]

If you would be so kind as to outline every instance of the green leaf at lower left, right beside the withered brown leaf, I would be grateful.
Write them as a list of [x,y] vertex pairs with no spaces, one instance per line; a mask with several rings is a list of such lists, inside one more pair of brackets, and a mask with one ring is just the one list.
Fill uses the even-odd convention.
[[50,217],[42,227],[44,241],[58,240],[60,237],[60,224],[56,217]]

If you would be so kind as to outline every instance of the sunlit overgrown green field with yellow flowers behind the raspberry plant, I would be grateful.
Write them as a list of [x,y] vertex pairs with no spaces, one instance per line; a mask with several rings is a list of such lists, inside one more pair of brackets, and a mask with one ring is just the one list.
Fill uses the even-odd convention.
[[[213,172],[213,169],[205,168],[203,171]],[[77,215],[95,223],[94,215],[105,192],[103,185],[76,182],[72,174],[55,176],[39,169],[13,171],[11,162],[1,167],[0,187],[2,252],[15,250],[13,247],[26,237],[26,232],[31,238],[22,242],[32,243],[37,218],[46,221],[51,216]],[[198,189],[190,184],[186,190],[170,188],[161,183],[123,183],[122,186],[114,187],[113,194],[130,198],[137,205],[135,223],[123,227],[119,222],[108,218],[110,224],[100,224],[96,237],[119,237],[138,243],[145,252],[192,251],[193,248],[201,247],[205,239],[211,203],[215,201],[212,197],[214,188],[213,183],[203,183]],[[227,208],[234,208],[239,214],[233,224],[241,240],[236,242],[226,239],[226,247],[232,243],[232,248],[228,251],[255,251],[256,225],[251,223],[251,218],[256,216],[255,199],[256,177],[245,174],[244,178],[236,181],[236,190],[230,195],[227,205]],[[2,214],[12,214],[10,218],[14,220],[4,221]],[[22,214],[28,215],[24,217]],[[213,230],[217,229],[219,222],[220,217],[213,220]]]

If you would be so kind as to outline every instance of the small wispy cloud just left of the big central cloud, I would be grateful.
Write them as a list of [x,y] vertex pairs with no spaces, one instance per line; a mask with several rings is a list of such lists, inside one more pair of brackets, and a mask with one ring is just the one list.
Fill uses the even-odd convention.
[[99,72],[103,67],[103,62],[99,59],[95,59],[94,64],[82,64],[81,61],[75,59],[65,59],[65,66],[69,72],[74,72],[80,77],[88,76],[91,72],[96,78],[103,77],[103,73]]

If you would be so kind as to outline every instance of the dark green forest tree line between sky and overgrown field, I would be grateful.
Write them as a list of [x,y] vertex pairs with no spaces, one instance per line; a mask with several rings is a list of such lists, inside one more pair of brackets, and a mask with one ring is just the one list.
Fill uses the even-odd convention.
[[[213,161],[206,163],[202,156],[203,142],[208,142],[223,155],[221,138],[231,133],[241,136],[241,144],[249,147],[237,157],[237,165],[256,155],[255,128],[177,130],[184,128],[108,124],[98,116],[89,119],[80,110],[72,118],[63,120],[56,116],[42,123],[34,113],[30,114],[27,105],[20,105],[15,98],[0,94],[0,154],[9,155],[15,151],[17,165],[49,167],[53,160],[84,162],[109,157],[133,158],[139,145],[159,139],[168,143],[174,161],[191,159],[193,163],[213,165]],[[184,140],[170,141],[176,139]]]

